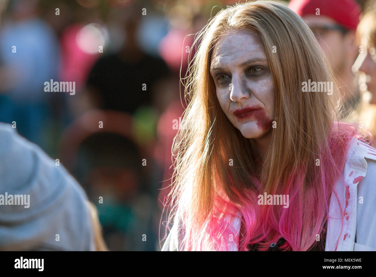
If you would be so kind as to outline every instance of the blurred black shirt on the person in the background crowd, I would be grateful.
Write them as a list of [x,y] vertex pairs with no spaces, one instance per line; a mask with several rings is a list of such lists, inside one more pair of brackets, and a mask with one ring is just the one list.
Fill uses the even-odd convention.
[[140,106],[153,104],[153,85],[169,74],[160,58],[143,54],[138,61],[125,61],[118,54],[109,54],[94,64],[87,86],[98,100],[99,109],[132,114]]

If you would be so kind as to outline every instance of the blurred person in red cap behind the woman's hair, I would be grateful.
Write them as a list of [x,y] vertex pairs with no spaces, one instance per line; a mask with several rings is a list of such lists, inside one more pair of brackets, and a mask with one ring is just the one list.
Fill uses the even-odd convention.
[[358,55],[354,41],[359,5],[354,0],[291,0],[288,8],[306,21],[331,63],[347,116],[359,103],[358,82],[351,70]]

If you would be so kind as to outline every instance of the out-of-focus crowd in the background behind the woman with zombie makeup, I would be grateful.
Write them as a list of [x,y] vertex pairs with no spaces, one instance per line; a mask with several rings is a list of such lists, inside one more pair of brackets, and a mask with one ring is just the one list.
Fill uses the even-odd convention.
[[[185,107],[194,34],[235,2],[2,2],[0,121],[77,179],[96,206],[108,249],[160,250],[174,121]],[[348,15],[320,17],[307,12],[310,2],[292,0],[290,8],[305,18],[335,69],[343,118],[374,134],[374,1],[343,0],[335,8],[341,1],[322,0]],[[74,91],[61,91],[61,82],[74,82]]]

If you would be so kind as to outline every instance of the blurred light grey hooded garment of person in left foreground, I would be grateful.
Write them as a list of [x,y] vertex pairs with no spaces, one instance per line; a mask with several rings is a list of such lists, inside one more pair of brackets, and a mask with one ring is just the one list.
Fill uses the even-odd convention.
[[0,145],[0,250],[105,249],[85,192],[58,160],[10,124],[0,123]]

